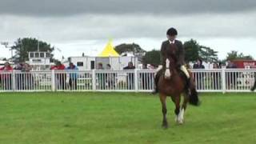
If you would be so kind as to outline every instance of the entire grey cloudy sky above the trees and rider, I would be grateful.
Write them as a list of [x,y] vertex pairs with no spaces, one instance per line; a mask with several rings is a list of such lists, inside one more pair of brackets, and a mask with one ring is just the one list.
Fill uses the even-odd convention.
[[[194,38],[221,59],[230,50],[256,58],[255,24],[255,0],[0,1],[0,42],[39,38],[61,50],[56,58],[97,55],[109,38],[114,46],[159,49],[170,27],[182,42]],[[0,57],[10,57],[4,46],[0,50]]]

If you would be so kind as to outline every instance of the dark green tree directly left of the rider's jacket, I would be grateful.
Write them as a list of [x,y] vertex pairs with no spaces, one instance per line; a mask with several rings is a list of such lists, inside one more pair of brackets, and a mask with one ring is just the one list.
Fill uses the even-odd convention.
[[143,63],[151,64],[154,66],[158,66],[160,64],[160,61],[160,50],[148,51],[142,58]]

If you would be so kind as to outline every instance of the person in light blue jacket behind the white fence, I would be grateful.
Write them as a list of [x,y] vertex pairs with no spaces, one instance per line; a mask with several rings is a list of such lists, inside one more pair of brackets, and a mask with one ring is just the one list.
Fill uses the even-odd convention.
[[[66,68],[66,70],[78,70],[78,67],[74,65],[74,63],[70,62],[70,66]],[[69,75],[67,75],[69,78],[68,83],[70,85],[71,90],[78,90],[78,74],[76,74],[74,71],[71,71]]]

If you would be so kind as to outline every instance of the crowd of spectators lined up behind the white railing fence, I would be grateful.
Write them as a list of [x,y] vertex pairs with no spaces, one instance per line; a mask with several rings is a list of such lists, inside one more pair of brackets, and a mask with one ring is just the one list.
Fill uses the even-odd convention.
[[[102,62],[99,62],[97,65],[97,70],[104,70],[104,67],[106,67],[106,70],[113,70],[110,64],[106,64],[106,66],[103,66]],[[189,66],[188,66],[189,67]],[[237,66],[234,65],[233,62],[228,61],[226,65],[226,69],[234,69]],[[153,67],[154,69],[155,67]],[[202,60],[198,59],[197,62],[194,64],[193,67],[190,67],[190,69],[205,69],[205,66],[202,64]],[[220,69],[222,68],[222,65],[220,63],[214,63],[213,64],[214,69]],[[128,65],[123,67],[123,70],[128,70],[126,72],[126,81],[125,86],[128,90],[134,90],[135,86],[135,78],[134,78],[134,72],[130,72],[129,70],[134,70],[135,66],[133,62],[128,62]],[[150,66],[143,64],[142,69],[150,69]],[[12,75],[10,72],[13,70],[18,70],[20,73],[15,73],[15,75]],[[21,62],[18,63],[14,68],[10,66],[9,62],[6,62],[4,66],[0,67],[0,85],[5,90],[12,90],[15,86],[15,89],[17,90],[33,90],[34,89],[34,75],[29,73],[30,70],[32,70],[32,67],[26,63]],[[78,89],[78,74],[74,71],[68,72],[68,70],[78,70],[78,66],[75,66],[74,63],[70,62],[69,66],[64,66],[61,62],[56,62],[55,66],[51,66],[50,70],[58,70],[58,73],[55,73],[55,88],[57,90],[77,90]],[[63,71],[65,70],[65,72]],[[24,74],[23,72],[26,72]],[[209,74],[208,74],[209,75]],[[14,80],[13,81],[13,76]],[[96,74],[96,82],[99,90],[108,90],[108,89],[115,89],[118,85],[118,74],[114,71],[108,71],[104,73],[97,73]],[[149,82],[152,82],[152,74],[139,74],[138,79],[140,80],[139,86],[141,86],[142,90],[147,90],[150,87],[148,86]],[[206,87],[206,73],[198,71],[197,73],[193,74],[194,81],[196,82],[196,86],[198,90],[204,90]],[[222,85],[222,75],[220,72],[211,73],[210,78],[213,83],[212,88],[214,90],[221,89]],[[236,72],[229,72],[226,73],[226,85],[228,88],[230,86],[234,86],[237,83],[238,73]],[[15,82],[14,84],[12,82]],[[14,86],[13,86],[14,85]]]

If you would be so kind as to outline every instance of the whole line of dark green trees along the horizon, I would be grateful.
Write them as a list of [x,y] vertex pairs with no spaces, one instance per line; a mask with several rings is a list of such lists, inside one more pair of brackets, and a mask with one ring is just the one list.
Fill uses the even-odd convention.
[[[14,42],[14,46],[11,48],[15,50],[15,54],[13,57],[14,62],[25,62],[28,60],[28,52],[29,51],[37,51],[38,46],[40,51],[49,52],[50,60],[54,62],[54,46],[51,46],[47,42],[38,41],[36,38],[18,38],[16,42]],[[198,58],[202,59],[204,62],[222,62],[227,60],[235,60],[235,59],[246,59],[253,60],[254,58],[250,55],[245,55],[242,53],[238,53],[238,51],[230,51],[226,55],[226,59],[220,60],[218,59],[218,51],[215,51],[213,48],[209,46],[202,46],[196,40],[190,39],[189,41],[184,42],[184,49],[186,51],[186,62],[195,62]],[[115,46],[114,49],[118,52],[118,54],[124,54],[130,52],[138,58],[143,63],[149,63],[155,66],[160,64],[160,48],[157,50],[146,51],[143,50],[141,46],[136,43],[131,44],[120,44]]]

